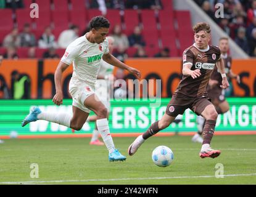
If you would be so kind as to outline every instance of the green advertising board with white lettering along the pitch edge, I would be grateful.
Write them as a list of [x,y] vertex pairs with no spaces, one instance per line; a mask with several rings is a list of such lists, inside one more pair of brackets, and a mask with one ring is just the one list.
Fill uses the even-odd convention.
[[[160,119],[165,113],[169,98],[162,98],[158,107],[152,107],[153,100],[113,100],[109,117],[110,131],[113,136],[134,136]],[[230,110],[218,116],[216,134],[256,134],[256,98],[228,98]],[[36,121],[21,127],[23,118],[32,106],[46,111],[65,111],[72,113],[72,100],[65,99],[64,105],[54,105],[52,100],[0,100],[0,139],[9,137],[89,137],[94,123],[85,123],[81,131],[72,133],[70,128],[47,121]],[[93,115],[93,113],[91,113]],[[197,131],[196,115],[186,110],[181,121],[171,124],[159,135],[191,135]]]

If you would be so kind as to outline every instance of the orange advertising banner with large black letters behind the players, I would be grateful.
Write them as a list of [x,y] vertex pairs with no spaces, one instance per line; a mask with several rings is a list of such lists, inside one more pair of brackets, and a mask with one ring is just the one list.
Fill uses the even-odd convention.
[[[0,78],[12,86],[11,73],[14,70],[27,74],[31,79],[31,98],[52,98],[54,89],[54,71],[59,60],[4,60],[0,69]],[[171,97],[181,78],[180,59],[128,59],[128,65],[141,70],[141,79],[161,79],[162,97]],[[237,97],[256,96],[256,59],[233,60],[232,70],[241,76],[241,84],[233,79],[234,95]],[[63,75],[63,92],[68,98],[68,82],[72,77],[72,66]],[[126,78],[134,76],[126,75]],[[158,88],[158,87],[157,87]]]

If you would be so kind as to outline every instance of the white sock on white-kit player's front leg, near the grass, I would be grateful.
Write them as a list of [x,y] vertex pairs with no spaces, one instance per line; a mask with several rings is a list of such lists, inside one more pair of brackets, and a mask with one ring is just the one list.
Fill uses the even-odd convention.
[[114,152],[115,145],[110,135],[109,122],[107,121],[107,118],[97,119],[96,124],[98,131],[101,134],[101,137],[105,143],[105,146],[107,147],[107,150],[109,150],[109,153]]

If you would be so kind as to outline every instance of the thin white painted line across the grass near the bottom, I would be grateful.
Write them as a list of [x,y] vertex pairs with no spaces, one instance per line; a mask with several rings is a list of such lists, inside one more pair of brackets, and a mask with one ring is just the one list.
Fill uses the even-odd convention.
[[[253,174],[227,174],[224,177],[249,177]],[[198,179],[198,178],[214,178],[215,175],[200,176],[183,176],[183,177],[148,177],[148,178],[123,178],[123,179],[85,179],[85,180],[43,180],[43,181],[27,181],[27,182],[0,182],[0,184],[35,184],[35,183],[66,183],[66,182],[101,182],[101,181],[120,181],[120,180],[160,180],[160,179]]]

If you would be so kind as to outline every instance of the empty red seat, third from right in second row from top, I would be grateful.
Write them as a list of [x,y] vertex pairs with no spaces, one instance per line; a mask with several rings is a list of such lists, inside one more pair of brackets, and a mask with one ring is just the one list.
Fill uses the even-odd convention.
[[154,10],[142,10],[141,20],[142,20],[143,29],[145,31],[157,30],[157,20],[155,18]]

